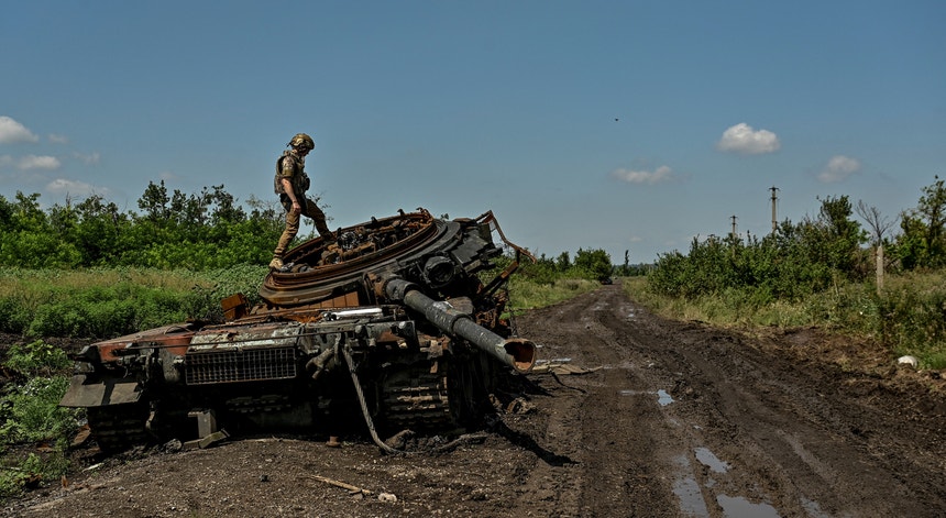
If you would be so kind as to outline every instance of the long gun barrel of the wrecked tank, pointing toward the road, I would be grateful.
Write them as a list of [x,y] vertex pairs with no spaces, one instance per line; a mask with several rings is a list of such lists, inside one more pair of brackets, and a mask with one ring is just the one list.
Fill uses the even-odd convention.
[[404,301],[405,306],[422,313],[441,331],[469,341],[519,373],[531,371],[536,364],[535,343],[525,339],[504,339],[450,304],[424,295],[414,283],[393,277],[384,283],[384,291],[388,298]]

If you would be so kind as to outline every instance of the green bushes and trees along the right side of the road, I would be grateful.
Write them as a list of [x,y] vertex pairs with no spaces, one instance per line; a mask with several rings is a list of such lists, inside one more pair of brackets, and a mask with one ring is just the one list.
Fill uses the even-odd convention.
[[[695,298],[747,289],[760,304],[800,300],[844,282],[868,280],[876,257],[890,272],[930,271],[946,266],[946,187],[936,177],[924,187],[916,208],[903,211],[900,232],[888,236],[892,222],[864,203],[854,219],[847,196],[822,200],[816,217],[782,222],[763,236],[728,235],[694,239],[684,255],[659,256],[648,277],[658,294]],[[870,246],[865,246],[869,244]],[[883,254],[876,254],[878,249]]]

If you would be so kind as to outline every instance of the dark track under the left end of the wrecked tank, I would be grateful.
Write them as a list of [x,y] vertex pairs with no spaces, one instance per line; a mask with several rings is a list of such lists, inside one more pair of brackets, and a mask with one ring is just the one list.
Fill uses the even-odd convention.
[[89,407],[89,431],[105,453],[128,450],[151,439],[145,429],[147,414],[147,405],[141,401]]

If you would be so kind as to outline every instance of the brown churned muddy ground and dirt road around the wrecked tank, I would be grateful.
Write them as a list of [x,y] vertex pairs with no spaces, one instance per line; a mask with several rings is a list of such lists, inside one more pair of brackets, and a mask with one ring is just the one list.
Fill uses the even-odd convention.
[[[653,316],[603,286],[517,319],[548,363],[474,440],[383,454],[366,438],[256,437],[74,452],[22,517],[933,517],[946,387],[818,329]],[[439,443],[439,438],[424,439]],[[176,450],[176,449],[175,449]]]

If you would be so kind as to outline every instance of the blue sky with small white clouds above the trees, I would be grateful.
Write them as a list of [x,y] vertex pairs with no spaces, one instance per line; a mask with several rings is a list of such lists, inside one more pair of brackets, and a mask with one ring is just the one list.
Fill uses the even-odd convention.
[[[297,132],[332,227],[493,210],[616,264],[946,174],[943,1],[3,1],[0,195],[273,200]],[[275,244],[275,243],[274,243]]]

